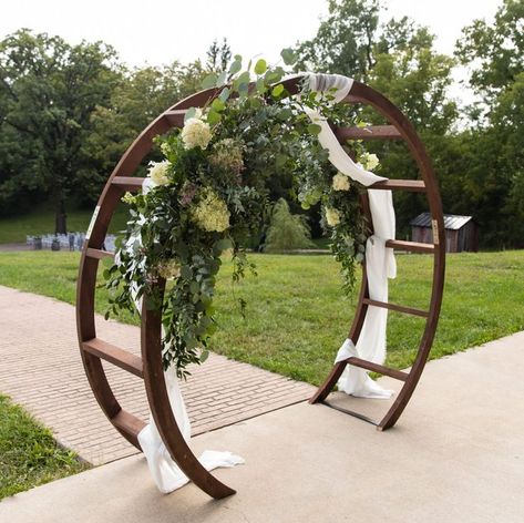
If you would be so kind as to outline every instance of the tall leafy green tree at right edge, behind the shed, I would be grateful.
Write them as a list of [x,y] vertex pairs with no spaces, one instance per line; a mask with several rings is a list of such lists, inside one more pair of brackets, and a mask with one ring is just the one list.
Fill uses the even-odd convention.
[[492,246],[524,246],[524,3],[505,0],[494,22],[464,28],[456,55],[480,100],[463,191]]

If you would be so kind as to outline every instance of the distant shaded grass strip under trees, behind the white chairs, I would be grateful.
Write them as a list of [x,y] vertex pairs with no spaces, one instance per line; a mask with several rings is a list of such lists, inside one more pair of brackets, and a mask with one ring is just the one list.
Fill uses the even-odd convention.
[[[68,211],[68,230],[88,230],[93,209]],[[119,207],[110,232],[125,229],[126,213],[123,207]],[[25,236],[54,233],[54,213],[48,206],[35,209],[32,213],[0,218],[0,244],[25,243]]]

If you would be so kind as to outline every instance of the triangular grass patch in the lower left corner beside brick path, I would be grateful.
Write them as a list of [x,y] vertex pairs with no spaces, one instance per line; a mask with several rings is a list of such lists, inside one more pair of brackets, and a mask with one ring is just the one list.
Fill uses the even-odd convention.
[[0,500],[88,466],[51,432],[0,394]]

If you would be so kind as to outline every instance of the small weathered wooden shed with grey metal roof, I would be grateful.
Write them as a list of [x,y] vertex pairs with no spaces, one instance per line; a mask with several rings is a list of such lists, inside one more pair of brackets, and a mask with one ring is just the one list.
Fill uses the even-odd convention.
[[[422,213],[410,222],[411,239],[422,244],[433,243],[430,213]],[[479,250],[479,227],[472,216],[444,214],[445,252]]]

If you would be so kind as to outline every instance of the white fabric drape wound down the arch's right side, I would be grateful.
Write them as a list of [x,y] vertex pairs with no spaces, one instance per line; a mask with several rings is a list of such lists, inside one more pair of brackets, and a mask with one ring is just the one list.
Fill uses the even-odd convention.
[[[309,89],[318,93],[329,92],[333,96],[333,103],[341,102],[351,91],[352,84],[352,79],[339,74],[309,75]],[[307,112],[311,121],[320,125],[318,140],[328,150],[329,161],[338,171],[364,186],[387,180],[356,164],[343,151],[327,120],[316,111]],[[366,244],[369,296],[378,301],[388,301],[388,278],[397,276],[393,249],[386,247],[386,240],[395,236],[393,197],[391,191],[369,189],[368,194],[373,222],[373,235]],[[383,363],[387,325],[388,309],[368,307],[357,346],[348,338],[340,347],[335,362],[358,357],[373,363]],[[339,390],[361,398],[387,399],[392,394],[392,391],[384,390],[376,383],[368,371],[350,365],[346,367],[337,386]]]

